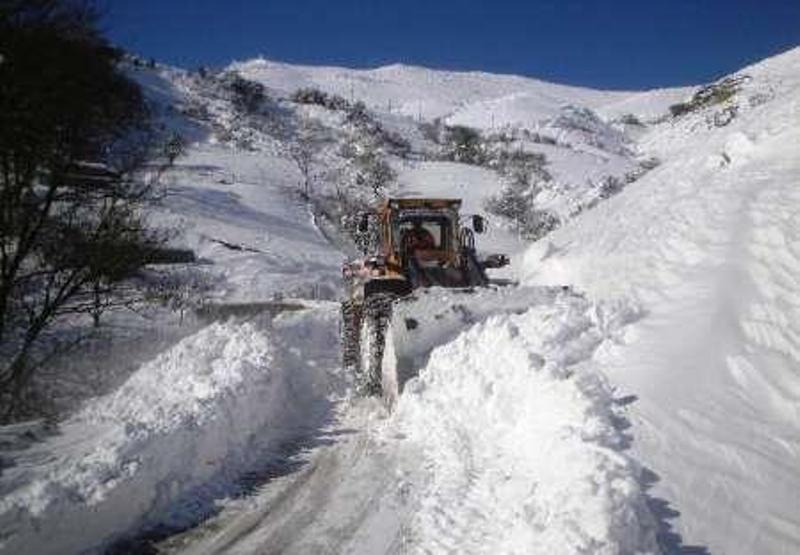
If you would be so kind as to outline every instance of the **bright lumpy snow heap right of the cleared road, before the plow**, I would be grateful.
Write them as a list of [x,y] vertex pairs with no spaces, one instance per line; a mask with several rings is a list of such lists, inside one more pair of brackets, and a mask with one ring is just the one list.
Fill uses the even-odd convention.
[[639,468],[592,357],[636,311],[562,296],[433,351],[397,406],[429,481],[412,552],[657,552]]

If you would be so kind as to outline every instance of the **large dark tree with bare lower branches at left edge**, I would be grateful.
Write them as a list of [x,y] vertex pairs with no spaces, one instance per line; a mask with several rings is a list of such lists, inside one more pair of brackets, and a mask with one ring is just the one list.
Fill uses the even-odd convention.
[[136,173],[146,104],[95,22],[88,3],[0,4],[0,419],[43,333],[97,313],[158,243],[140,215],[153,184]]

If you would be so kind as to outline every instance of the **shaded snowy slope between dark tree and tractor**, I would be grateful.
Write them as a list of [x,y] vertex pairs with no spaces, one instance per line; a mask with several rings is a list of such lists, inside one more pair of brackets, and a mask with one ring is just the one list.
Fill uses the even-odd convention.
[[240,302],[335,296],[343,255],[293,194],[297,169],[286,158],[198,145],[170,179],[159,217],[222,273],[217,296]]

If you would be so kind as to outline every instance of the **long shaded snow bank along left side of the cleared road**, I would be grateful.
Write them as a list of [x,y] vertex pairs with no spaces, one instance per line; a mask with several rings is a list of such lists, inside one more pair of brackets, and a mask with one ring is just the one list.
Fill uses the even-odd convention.
[[326,416],[335,376],[319,360],[336,352],[336,317],[282,317],[271,332],[215,323],[145,364],[4,471],[0,550],[78,553],[207,511]]

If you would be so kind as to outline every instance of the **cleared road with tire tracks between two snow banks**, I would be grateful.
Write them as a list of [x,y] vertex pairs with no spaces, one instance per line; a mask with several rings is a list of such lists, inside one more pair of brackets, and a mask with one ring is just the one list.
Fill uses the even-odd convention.
[[161,548],[184,555],[402,552],[408,474],[397,463],[408,453],[370,432],[381,412],[371,402],[352,408],[335,427],[339,440],[316,449],[299,472]]

